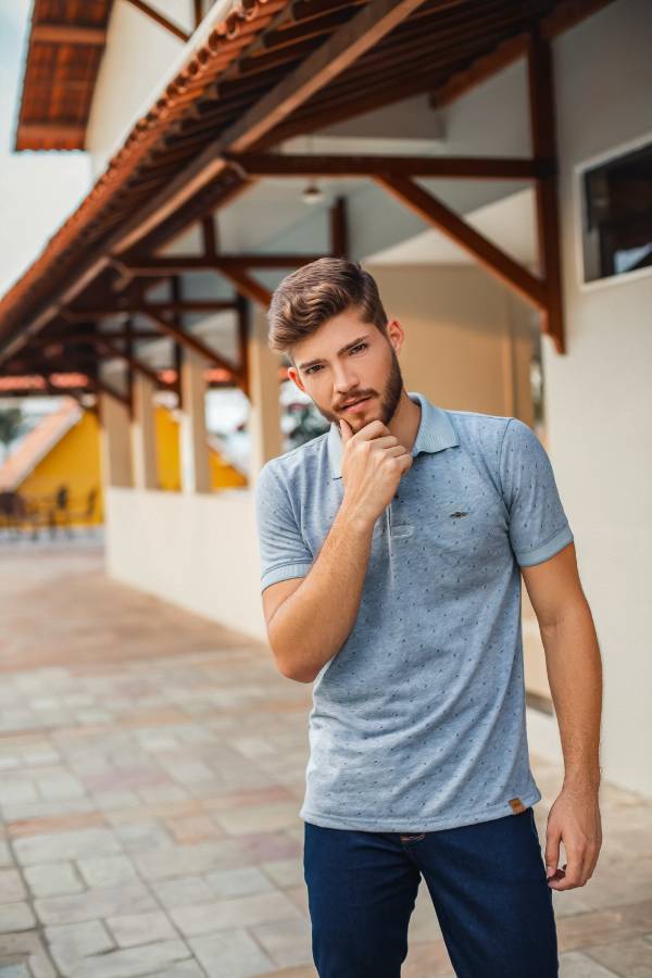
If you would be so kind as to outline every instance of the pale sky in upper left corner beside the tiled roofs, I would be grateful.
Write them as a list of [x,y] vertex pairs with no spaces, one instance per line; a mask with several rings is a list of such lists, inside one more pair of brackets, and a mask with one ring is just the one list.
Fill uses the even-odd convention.
[[0,296],[86,196],[83,152],[12,152],[32,0],[0,0]]

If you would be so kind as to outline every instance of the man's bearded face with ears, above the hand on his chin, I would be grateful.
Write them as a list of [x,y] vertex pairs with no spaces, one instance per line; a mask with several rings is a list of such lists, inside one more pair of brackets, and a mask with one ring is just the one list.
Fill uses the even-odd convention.
[[[288,367],[288,376],[338,428],[340,417],[354,432],[376,419],[388,425],[403,389],[394,350],[402,340],[396,321],[385,337],[373,323],[362,321],[356,310],[347,310],[297,343],[292,351],[297,367]],[[352,409],[344,406],[363,398]]]

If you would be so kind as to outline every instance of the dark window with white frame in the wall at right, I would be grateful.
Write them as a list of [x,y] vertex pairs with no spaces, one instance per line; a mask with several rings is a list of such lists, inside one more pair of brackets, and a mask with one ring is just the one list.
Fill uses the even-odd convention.
[[585,280],[652,267],[652,142],[581,174]]

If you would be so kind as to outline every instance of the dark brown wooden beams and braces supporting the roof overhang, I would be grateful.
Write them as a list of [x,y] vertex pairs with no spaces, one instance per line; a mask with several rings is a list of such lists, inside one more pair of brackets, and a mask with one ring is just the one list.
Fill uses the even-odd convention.
[[[135,0],[130,2],[141,10],[149,7],[147,3],[136,3]],[[414,32],[411,17],[427,16],[436,9],[454,8],[457,2],[459,0],[371,0],[361,5],[359,12],[347,16],[346,9],[325,2],[323,15],[313,23],[317,33],[327,27],[326,39],[299,60],[258,101],[244,108],[235,122],[225,127],[217,126],[215,138],[198,143],[200,149],[190,155],[188,162],[181,162],[174,171],[170,171],[170,178],[166,178],[162,189],[153,189],[133,214],[108,226],[101,244],[90,248],[80,261],[75,278],[60,290],[55,299],[43,301],[41,308],[35,311],[28,329],[11,335],[0,354],[0,363],[5,364],[5,371],[15,374],[21,365],[25,366],[25,363],[21,364],[14,358],[25,343],[29,343],[37,354],[32,360],[33,367],[37,366],[39,374],[47,377],[50,361],[38,355],[38,334],[48,326],[46,342],[61,341],[66,350],[78,350],[79,359],[74,360],[74,368],[80,371],[84,369],[85,362],[82,351],[86,350],[96,354],[101,352],[103,355],[120,356],[127,364],[128,371],[146,373],[150,368],[134,355],[133,342],[165,336],[174,343],[175,369],[171,377],[176,377],[177,384],[181,350],[187,349],[201,353],[216,371],[224,372],[230,383],[247,390],[249,303],[253,301],[266,306],[271,298],[268,290],[255,277],[256,269],[293,268],[318,255],[223,253],[216,240],[213,214],[233,203],[259,179],[283,176],[363,177],[374,180],[539,310],[542,331],[550,336],[555,349],[563,353],[557,162],[550,43],[559,33],[605,5],[609,0],[559,0],[552,13],[535,21],[527,34],[506,38],[489,54],[476,58],[467,68],[448,76],[443,84],[431,89],[432,103],[446,104],[517,58],[526,57],[532,145],[530,158],[316,158],[271,152],[290,136],[314,131],[336,118],[351,117],[377,105],[405,98],[413,93],[411,86],[414,91],[424,91],[424,77],[418,73],[410,73],[405,87],[394,85],[391,90],[384,87],[383,78],[379,77],[373,90],[367,87],[368,93],[356,102],[349,99],[339,105],[338,95],[333,95],[333,83],[344,73],[353,72],[354,75],[358,63],[365,59],[368,62],[369,57],[375,58],[374,48],[384,43],[399,27],[403,29],[405,22],[406,29]],[[266,42],[278,43],[279,26],[283,26],[286,48],[290,52],[289,60],[296,58],[296,53],[292,53],[296,48],[292,47],[291,34],[294,28],[291,23],[283,22],[286,16],[284,11],[285,9],[279,12],[278,18],[272,24],[268,36],[263,35],[262,39],[252,42],[253,47],[258,43],[256,57],[264,54]],[[304,36],[305,27],[302,26],[297,37]],[[277,52],[276,47],[274,51]],[[283,60],[281,52],[275,53],[275,57]],[[400,50],[392,57],[400,58]],[[259,61],[258,65],[261,63]],[[233,87],[238,72],[240,78],[246,78],[244,67],[247,65],[241,62],[238,71],[233,73],[235,80],[229,77],[225,82],[218,82],[216,93],[226,92],[229,85]],[[347,75],[349,76],[350,74]],[[340,83],[338,85],[340,87],[335,90],[341,90],[341,98],[344,100],[346,86]],[[206,127],[211,127],[210,120]],[[187,147],[179,127],[170,133],[167,142],[173,147],[173,152],[178,146],[179,160],[186,159]],[[167,158],[162,159],[167,167]],[[439,177],[531,181],[537,200],[539,274],[514,261],[417,183],[418,178]],[[161,251],[170,241],[198,223],[203,230],[202,254],[162,256]],[[341,199],[330,212],[330,253],[347,255],[347,215]],[[198,269],[213,272],[230,283],[234,298],[226,302],[185,299],[181,296],[179,276]],[[148,290],[162,279],[170,281],[172,299],[153,302],[148,299]],[[234,311],[237,317],[237,364],[229,363],[184,327],[186,314],[227,309]],[[150,324],[150,329],[128,324],[112,333],[104,326],[100,333],[98,324],[105,317],[116,315],[138,315]],[[71,366],[68,363],[68,369]],[[99,389],[99,381],[92,378],[92,372],[89,376]],[[159,374],[154,373],[154,376],[160,384],[170,386],[173,383],[162,379]],[[117,396],[113,390],[109,392]]]

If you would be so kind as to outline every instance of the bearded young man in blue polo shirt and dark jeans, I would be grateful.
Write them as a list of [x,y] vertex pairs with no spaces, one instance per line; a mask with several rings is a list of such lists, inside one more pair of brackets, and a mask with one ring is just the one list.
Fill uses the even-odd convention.
[[[314,684],[300,815],[318,974],[399,978],[423,877],[456,975],[552,978],[551,890],[584,886],[601,844],[601,662],[549,459],[516,418],[405,391],[403,329],[358,264],[287,276],[269,324],[331,423],[255,489],[269,644]],[[565,762],[546,863],[522,574]]]

